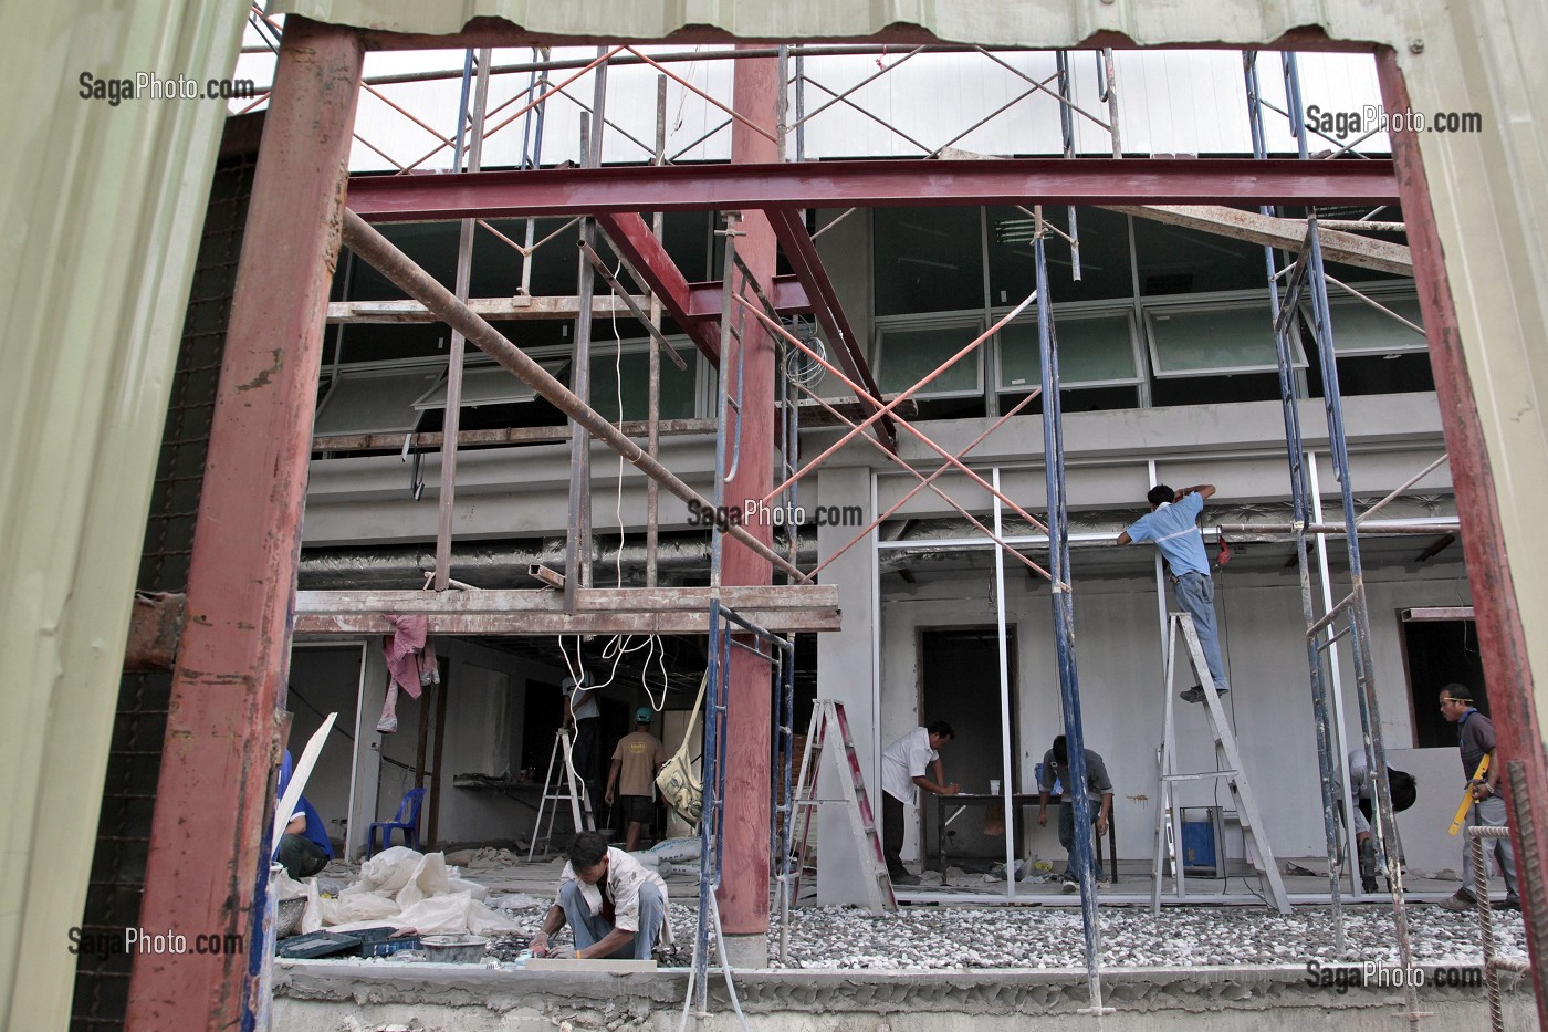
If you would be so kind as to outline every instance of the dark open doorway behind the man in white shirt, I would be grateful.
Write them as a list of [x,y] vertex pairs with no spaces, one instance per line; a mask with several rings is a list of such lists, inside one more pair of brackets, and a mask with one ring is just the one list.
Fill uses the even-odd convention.
[[[1008,691],[1011,697],[1011,755],[1020,755],[1015,742],[1015,629],[1006,629],[1005,642]],[[920,629],[920,719],[946,721],[957,731],[955,741],[941,752],[947,781],[963,792],[988,792],[991,781],[1005,778],[1003,742],[1006,734],[1000,707],[1000,632],[994,624],[969,628]],[[1012,767],[1014,770],[1014,767]],[[1011,792],[1020,786],[1008,786]],[[926,796],[924,841],[927,855],[935,849],[935,807]],[[985,866],[1005,860],[1002,831],[985,834],[992,807],[969,809],[947,829],[947,851],[952,863],[981,860]]]

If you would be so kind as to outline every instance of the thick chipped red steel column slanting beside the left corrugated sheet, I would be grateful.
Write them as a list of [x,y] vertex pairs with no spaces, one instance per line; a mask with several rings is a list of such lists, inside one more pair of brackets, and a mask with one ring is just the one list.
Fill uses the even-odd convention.
[[[139,925],[246,937],[268,868],[311,420],[364,48],[285,23],[194,531]],[[252,944],[248,944],[252,950]],[[125,1027],[234,1029],[246,955],[135,958]]]

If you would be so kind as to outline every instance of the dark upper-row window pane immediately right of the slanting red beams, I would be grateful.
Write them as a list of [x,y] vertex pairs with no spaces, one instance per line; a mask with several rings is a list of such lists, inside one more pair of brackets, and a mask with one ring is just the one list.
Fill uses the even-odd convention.
[[876,315],[983,307],[977,208],[878,208]]

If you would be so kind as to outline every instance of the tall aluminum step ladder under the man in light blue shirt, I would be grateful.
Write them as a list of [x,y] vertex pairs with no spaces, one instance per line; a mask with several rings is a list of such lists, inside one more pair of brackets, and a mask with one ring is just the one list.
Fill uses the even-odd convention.
[[[1187,657],[1198,674],[1198,685],[1204,690],[1204,716],[1209,721],[1211,736],[1215,741],[1215,770],[1200,770],[1194,773],[1176,772],[1176,659],[1178,637],[1187,649]],[[1241,767],[1241,753],[1237,750],[1237,738],[1226,721],[1226,710],[1220,703],[1220,693],[1209,676],[1209,665],[1204,662],[1204,649],[1198,645],[1198,629],[1194,618],[1186,612],[1169,614],[1167,654],[1166,654],[1166,703],[1164,703],[1161,753],[1159,753],[1159,792],[1156,795],[1156,840],[1155,840],[1155,871],[1150,882],[1150,913],[1161,913],[1161,877],[1164,862],[1172,863],[1172,874],[1176,879],[1176,897],[1187,899],[1186,879],[1183,874],[1183,858],[1180,857],[1181,824],[1173,820],[1176,809],[1175,786],[1184,781],[1212,781],[1223,778],[1231,789],[1235,803],[1237,818],[1241,823],[1241,834],[1246,845],[1248,862],[1257,866],[1263,875],[1263,897],[1269,906],[1282,914],[1289,913],[1289,897],[1285,894],[1285,882],[1279,874],[1279,863],[1269,849],[1266,837],[1262,834],[1263,820],[1259,814],[1257,801],[1252,796],[1252,786],[1248,784],[1246,770]],[[1221,765],[1223,764],[1223,765]],[[1226,871],[1226,843],[1215,843],[1218,872]],[[1254,858],[1255,857],[1255,858]]]

